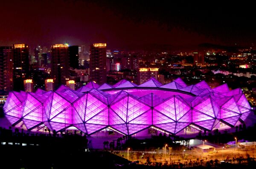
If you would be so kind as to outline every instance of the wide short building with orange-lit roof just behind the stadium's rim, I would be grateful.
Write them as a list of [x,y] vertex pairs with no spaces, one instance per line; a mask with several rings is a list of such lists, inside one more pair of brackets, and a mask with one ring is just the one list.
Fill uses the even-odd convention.
[[137,73],[138,84],[145,83],[151,77],[154,77],[155,79],[157,79],[158,69],[159,68],[140,68]]

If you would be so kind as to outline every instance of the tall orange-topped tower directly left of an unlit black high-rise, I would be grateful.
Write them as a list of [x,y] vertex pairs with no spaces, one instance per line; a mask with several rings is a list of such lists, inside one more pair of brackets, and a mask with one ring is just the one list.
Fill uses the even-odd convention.
[[66,85],[66,79],[70,77],[70,58],[67,43],[52,45],[51,68],[55,89],[61,84]]

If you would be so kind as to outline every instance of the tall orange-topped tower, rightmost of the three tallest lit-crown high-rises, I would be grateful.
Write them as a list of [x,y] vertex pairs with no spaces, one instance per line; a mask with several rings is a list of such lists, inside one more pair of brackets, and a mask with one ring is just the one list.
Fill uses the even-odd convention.
[[93,43],[90,46],[90,80],[98,84],[107,81],[106,43]]

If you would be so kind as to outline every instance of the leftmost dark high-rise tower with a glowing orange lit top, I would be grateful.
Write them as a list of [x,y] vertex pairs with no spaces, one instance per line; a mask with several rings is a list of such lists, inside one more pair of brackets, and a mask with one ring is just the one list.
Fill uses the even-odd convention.
[[29,46],[13,44],[13,81],[14,90],[23,90],[23,79],[29,76]]

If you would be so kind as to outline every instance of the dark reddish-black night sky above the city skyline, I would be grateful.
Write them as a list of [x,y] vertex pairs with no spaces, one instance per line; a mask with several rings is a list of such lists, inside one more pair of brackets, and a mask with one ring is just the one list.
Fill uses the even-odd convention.
[[[170,0],[171,1],[171,0]],[[12,0],[0,3],[0,46],[106,42],[112,49],[149,44],[256,43],[252,3],[147,0]]]

